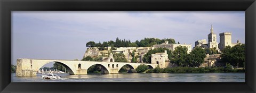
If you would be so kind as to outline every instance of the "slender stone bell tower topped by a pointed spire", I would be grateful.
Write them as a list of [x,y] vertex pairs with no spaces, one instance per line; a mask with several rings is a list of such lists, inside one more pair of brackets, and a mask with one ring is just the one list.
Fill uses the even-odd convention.
[[211,33],[208,35],[208,48],[218,48],[217,35],[213,33],[213,27],[211,26]]

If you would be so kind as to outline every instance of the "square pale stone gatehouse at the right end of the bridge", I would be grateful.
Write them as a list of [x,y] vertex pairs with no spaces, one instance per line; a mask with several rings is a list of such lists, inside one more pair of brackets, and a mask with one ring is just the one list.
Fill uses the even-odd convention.
[[151,54],[151,64],[158,64],[161,68],[165,68],[170,63],[169,61],[166,50],[164,53]]

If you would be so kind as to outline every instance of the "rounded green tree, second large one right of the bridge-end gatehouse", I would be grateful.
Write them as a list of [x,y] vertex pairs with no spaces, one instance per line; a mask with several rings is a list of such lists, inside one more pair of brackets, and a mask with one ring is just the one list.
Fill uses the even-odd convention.
[[194,48],[192,52],[188,54],[189,65],[193,67],[200,66],[200,64],[204,62],[205,56],[206,55],[204,49],[202,49],[201,47]]

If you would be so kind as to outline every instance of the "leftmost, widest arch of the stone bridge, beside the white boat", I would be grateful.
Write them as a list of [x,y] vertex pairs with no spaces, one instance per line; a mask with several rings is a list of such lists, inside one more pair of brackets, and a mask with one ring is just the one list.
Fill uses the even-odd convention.
[[36,70],[39,70],[41,67],[43,67],[45,64],[50,63],[50,62],[55,62],[55,63],[59,63],[61,65],[63,65],[64,67],[66,67],[67,72],[69,72],[69,74],[75,74],[74,72],[76,71],[76,69],[74,67],[70,67],[70,65],[68,66],[68,64],[61,62],[61,61],[47,61],[47,62],[42,62],[43,64],[39,64],[37,66],[33,66],[36,68]]

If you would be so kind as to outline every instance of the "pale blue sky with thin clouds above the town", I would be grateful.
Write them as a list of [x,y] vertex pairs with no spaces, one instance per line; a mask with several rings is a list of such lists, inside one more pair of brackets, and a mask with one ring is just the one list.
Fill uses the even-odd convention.
[[[244,11],[13,11],[12,64],[18,58],[81,60],[86,43],[173,38],[192,44],[213,32],[245,43]],[[51,67],[53,63],[45,66]]]

